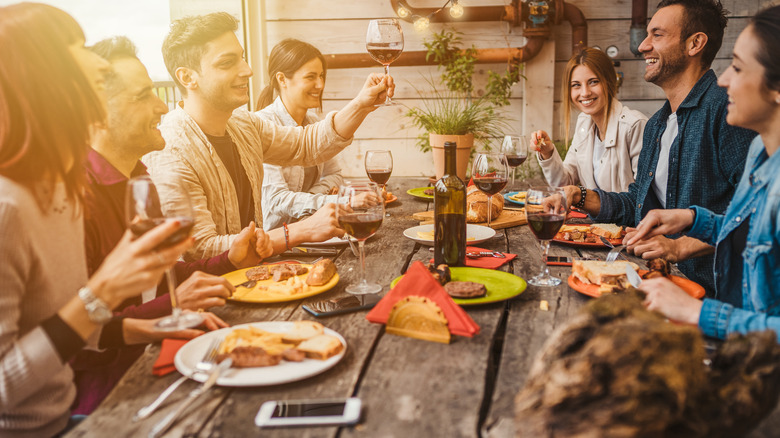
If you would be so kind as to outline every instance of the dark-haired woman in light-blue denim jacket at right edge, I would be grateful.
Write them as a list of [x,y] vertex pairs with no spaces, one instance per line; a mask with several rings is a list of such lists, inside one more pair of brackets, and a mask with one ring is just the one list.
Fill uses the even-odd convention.
[[667,279],[642,282],[645,304],[670,319],[697,324],[704,334],[772,329],[780,339],[780,6],[759,12],[734,46],[718,84],[729,95],[730,125],[755,130],[737,191],[724,215],[705,208],[653,210],[632,245],[684,232],[716,247],[715,299],[691,298]]

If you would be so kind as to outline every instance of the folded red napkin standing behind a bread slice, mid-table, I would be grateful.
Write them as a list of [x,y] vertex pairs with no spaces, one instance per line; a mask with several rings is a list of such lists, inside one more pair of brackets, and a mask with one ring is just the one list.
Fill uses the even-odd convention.
[[366,315],[366,319],[378,324],[386,324],[390,311],[398,300],[408,296],[428,298],[436,303],[447,318],[450,333],[458,336],[472,337],[479,333],[479,326],[463,310],[455,304],[444,291],[444,288],[433,278],[428,268],[420,261],[412,264],[401,281],[387,293]]

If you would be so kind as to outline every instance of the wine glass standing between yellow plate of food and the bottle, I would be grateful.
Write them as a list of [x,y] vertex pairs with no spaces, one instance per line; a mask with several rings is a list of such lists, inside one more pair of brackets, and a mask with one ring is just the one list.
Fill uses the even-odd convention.
[[369,283],[366,280],[366,257],[364,244],[373,236],[385,216],[385,203],[382,202],[382,192],[373,182],[347,182],[339,188],[336,219],[339,226],[346,230],[350,237],[358,241],[360,252],[360,282],[351,284],[346,291],[351,294],[375,294],[382,291],[382,285]]

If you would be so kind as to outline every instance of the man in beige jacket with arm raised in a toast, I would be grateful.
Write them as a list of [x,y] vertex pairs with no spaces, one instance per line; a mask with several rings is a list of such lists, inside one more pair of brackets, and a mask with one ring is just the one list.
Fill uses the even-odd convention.
[[[195,211],[195,245],[185,259],[224,252],[241,229],[262,224],[263,163],[312,166],[351,143],[363,119],[392,96],[393,80],[372,74],[358,96],[338,112],[303,128],[284,127],[240,108],[249,101],[252,70],[236,38],[237,20],[218,12],[175,21],[163,43],[168,72],[182,91],[183,105],[161,124],[166,146],[143,162],[158,187],[163,209],[179,185]],[[204,43],[205,41],[205,43]],[[271,230],[274,253],[306,241],[341,236],[335,205]]]

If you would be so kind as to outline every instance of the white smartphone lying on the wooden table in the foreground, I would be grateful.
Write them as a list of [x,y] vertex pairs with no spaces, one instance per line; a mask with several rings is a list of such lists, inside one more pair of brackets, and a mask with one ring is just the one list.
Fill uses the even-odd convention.
[[257,411],[260,427],[338,426],[360,420],[361,402],[357,397],[321,400],[272,400]]

